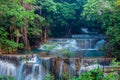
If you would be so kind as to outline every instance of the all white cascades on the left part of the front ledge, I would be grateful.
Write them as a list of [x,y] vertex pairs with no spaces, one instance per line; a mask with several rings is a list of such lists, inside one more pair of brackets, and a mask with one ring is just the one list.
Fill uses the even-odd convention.
[[49,74],[50,58],[39,58],[38,55],[30,58],[16,62],[17,65],[9,60],[0,60],[0,75],[12,76],[15,80],[43,80]]

